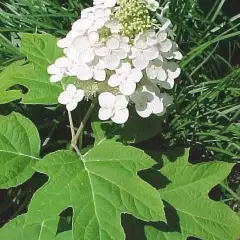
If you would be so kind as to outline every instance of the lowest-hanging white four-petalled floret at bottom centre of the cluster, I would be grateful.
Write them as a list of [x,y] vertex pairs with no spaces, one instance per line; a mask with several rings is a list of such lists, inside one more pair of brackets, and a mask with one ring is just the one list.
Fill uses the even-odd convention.
[[122,124],[128,120],[128,99],[124,95],[113,95],[109,92],[101,93],[98,97],[100,109],[98,116],[101,120],[111,120]]

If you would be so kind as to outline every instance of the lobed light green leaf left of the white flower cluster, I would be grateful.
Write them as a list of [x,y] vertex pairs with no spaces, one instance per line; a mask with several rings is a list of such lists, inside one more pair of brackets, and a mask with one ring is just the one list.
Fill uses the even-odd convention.
[[[21,51],[29,63],[15,62],[0,74],[0,104],[22,99],[25,104],[54,104],[62,91],[60,83],[51,83],[47,66],[52,64],[62,51],[57,47],[57,39],[49,34],[21,34]],[[21,85],[28,89],[23,94],[13,86]],[[16,90],[17,89],[17,90]]]

